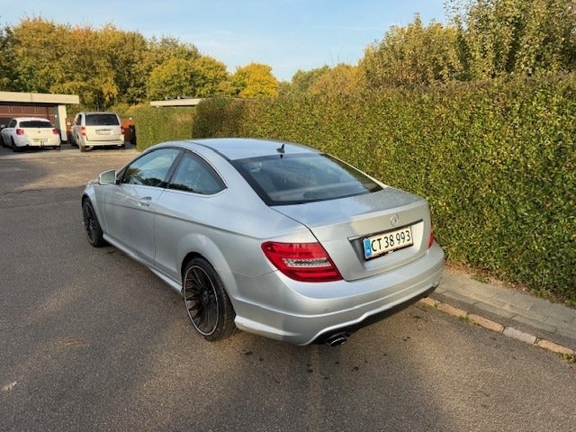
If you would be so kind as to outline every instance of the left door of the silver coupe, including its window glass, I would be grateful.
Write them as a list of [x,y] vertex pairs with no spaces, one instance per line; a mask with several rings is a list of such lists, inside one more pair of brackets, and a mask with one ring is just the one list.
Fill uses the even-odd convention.
[[120,184],[103,199],[107,234],[135,257],[154,260],[154,212],[166,178],[178,157],[177,148],[145,153],[121,172]]

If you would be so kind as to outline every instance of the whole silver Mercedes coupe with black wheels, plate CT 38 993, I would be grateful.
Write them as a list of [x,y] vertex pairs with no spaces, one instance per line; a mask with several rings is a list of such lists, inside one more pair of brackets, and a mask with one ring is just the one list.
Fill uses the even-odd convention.
[[428,295],[444,264],[424,198],[289,142],[157,144],[87,184],[82,211],[89,243],[182,293],[208,340],[336,346]]

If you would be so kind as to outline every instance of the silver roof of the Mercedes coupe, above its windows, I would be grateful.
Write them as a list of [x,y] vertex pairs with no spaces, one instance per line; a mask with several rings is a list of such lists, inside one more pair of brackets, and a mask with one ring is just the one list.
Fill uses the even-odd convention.
[[202,146],[203,148],[211,148],[229,160],[278,154],[320,153],[320,150],[316,148],[275,139],[211,138],[189,139],[181,142],[184,147]]

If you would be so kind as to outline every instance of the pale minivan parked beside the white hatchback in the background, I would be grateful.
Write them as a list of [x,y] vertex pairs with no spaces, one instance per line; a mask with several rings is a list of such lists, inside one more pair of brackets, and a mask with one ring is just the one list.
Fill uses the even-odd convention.
[[94,147],[124,148],[124,130],[115,112],[78,112],[70,131],[72,144],[80,151]]

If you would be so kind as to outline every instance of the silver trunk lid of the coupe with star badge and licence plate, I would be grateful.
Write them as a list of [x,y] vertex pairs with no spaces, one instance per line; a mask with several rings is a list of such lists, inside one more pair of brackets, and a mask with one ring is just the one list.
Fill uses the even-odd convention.
[[274,208],[308,227],[348,281],[388,272],[428,250],[428,202],[392,187]]

